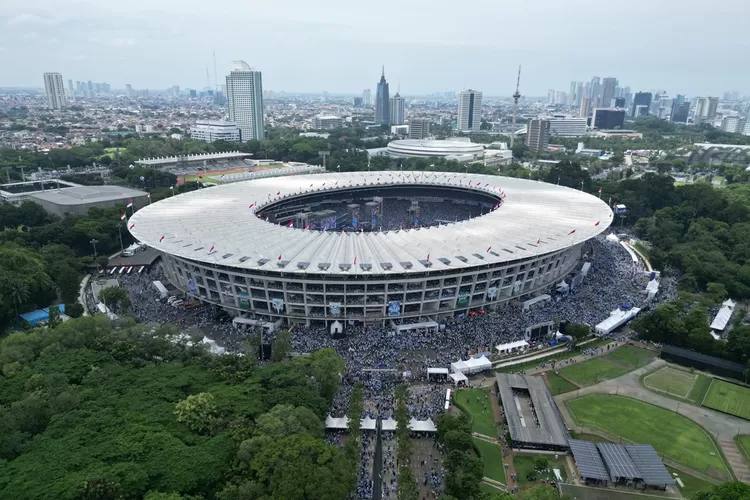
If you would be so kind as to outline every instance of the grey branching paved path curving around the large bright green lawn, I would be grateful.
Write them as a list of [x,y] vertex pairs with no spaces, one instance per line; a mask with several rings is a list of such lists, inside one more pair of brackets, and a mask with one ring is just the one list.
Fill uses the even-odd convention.
[[[666,364],[664,360],[657,358],[638,370],[615,379],[605,380],[591,387],[560,394],[555,397],[555,400],[557,400],[558,406],[563,410],[562,413],[566,417],[566,420],[570,416],[565,411],[564,401],[577,396],[594,393],[619,394],[620,396],[632,397],[668,410],[678,411],[680,415],[697,422],[710,432],[727,456],[735,476],[744,482],[750,483],[750,469],[748,469],[747,465],[741,459],[740,452],[732,441],[732,438],[737,433],[750,434],[750,422],[700,406],[675,401],[674,399],[649,391],[638,382],[638,378],[643,373],[656,370],[662,366],[666,366]],[[569,424],[571,423],[572,421],[569,421]]]

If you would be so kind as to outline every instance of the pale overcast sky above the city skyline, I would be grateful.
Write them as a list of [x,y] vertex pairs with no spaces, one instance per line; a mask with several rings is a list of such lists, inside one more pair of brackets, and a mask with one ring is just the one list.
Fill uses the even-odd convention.
[[750,1],[0,0],[0,86],[42,73],[113,88],[219,83],[234,59],[263,86],[359,93],[567,91],[615,76],[633,91],[750,95]]

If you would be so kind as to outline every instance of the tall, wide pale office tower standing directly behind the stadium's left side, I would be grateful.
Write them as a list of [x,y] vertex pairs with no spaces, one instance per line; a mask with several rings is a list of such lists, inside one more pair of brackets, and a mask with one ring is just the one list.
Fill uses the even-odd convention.
[[227,75],[227,111],[229,121],[237,124],[242,141],[263,140],[263,81],[260,71],[245,61],[234,61]]

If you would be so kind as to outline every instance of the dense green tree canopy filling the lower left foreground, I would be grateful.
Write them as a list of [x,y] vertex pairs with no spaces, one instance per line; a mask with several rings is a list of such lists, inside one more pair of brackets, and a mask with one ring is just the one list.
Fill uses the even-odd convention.
[[346,498],[332,350],[258,367],[172,333],[89,317],[5,338],[0,497]]

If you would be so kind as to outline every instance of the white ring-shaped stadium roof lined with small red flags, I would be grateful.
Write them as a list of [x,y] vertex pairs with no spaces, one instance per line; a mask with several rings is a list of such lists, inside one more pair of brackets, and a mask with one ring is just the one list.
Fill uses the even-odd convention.
[[[259,206],[300,194],[404,184],[496,197],[505,193],[506,198],[498,209],[474,219],[403,231],[312,231],[269,223],[255,213]],[[172,196],[138,210],[128,227],[150,247],[210,265],[372,275],[527,259],[588,240],[607,229],[611,217],[595,196],[544,182],[442,172],[347,172],[257,179]]]

